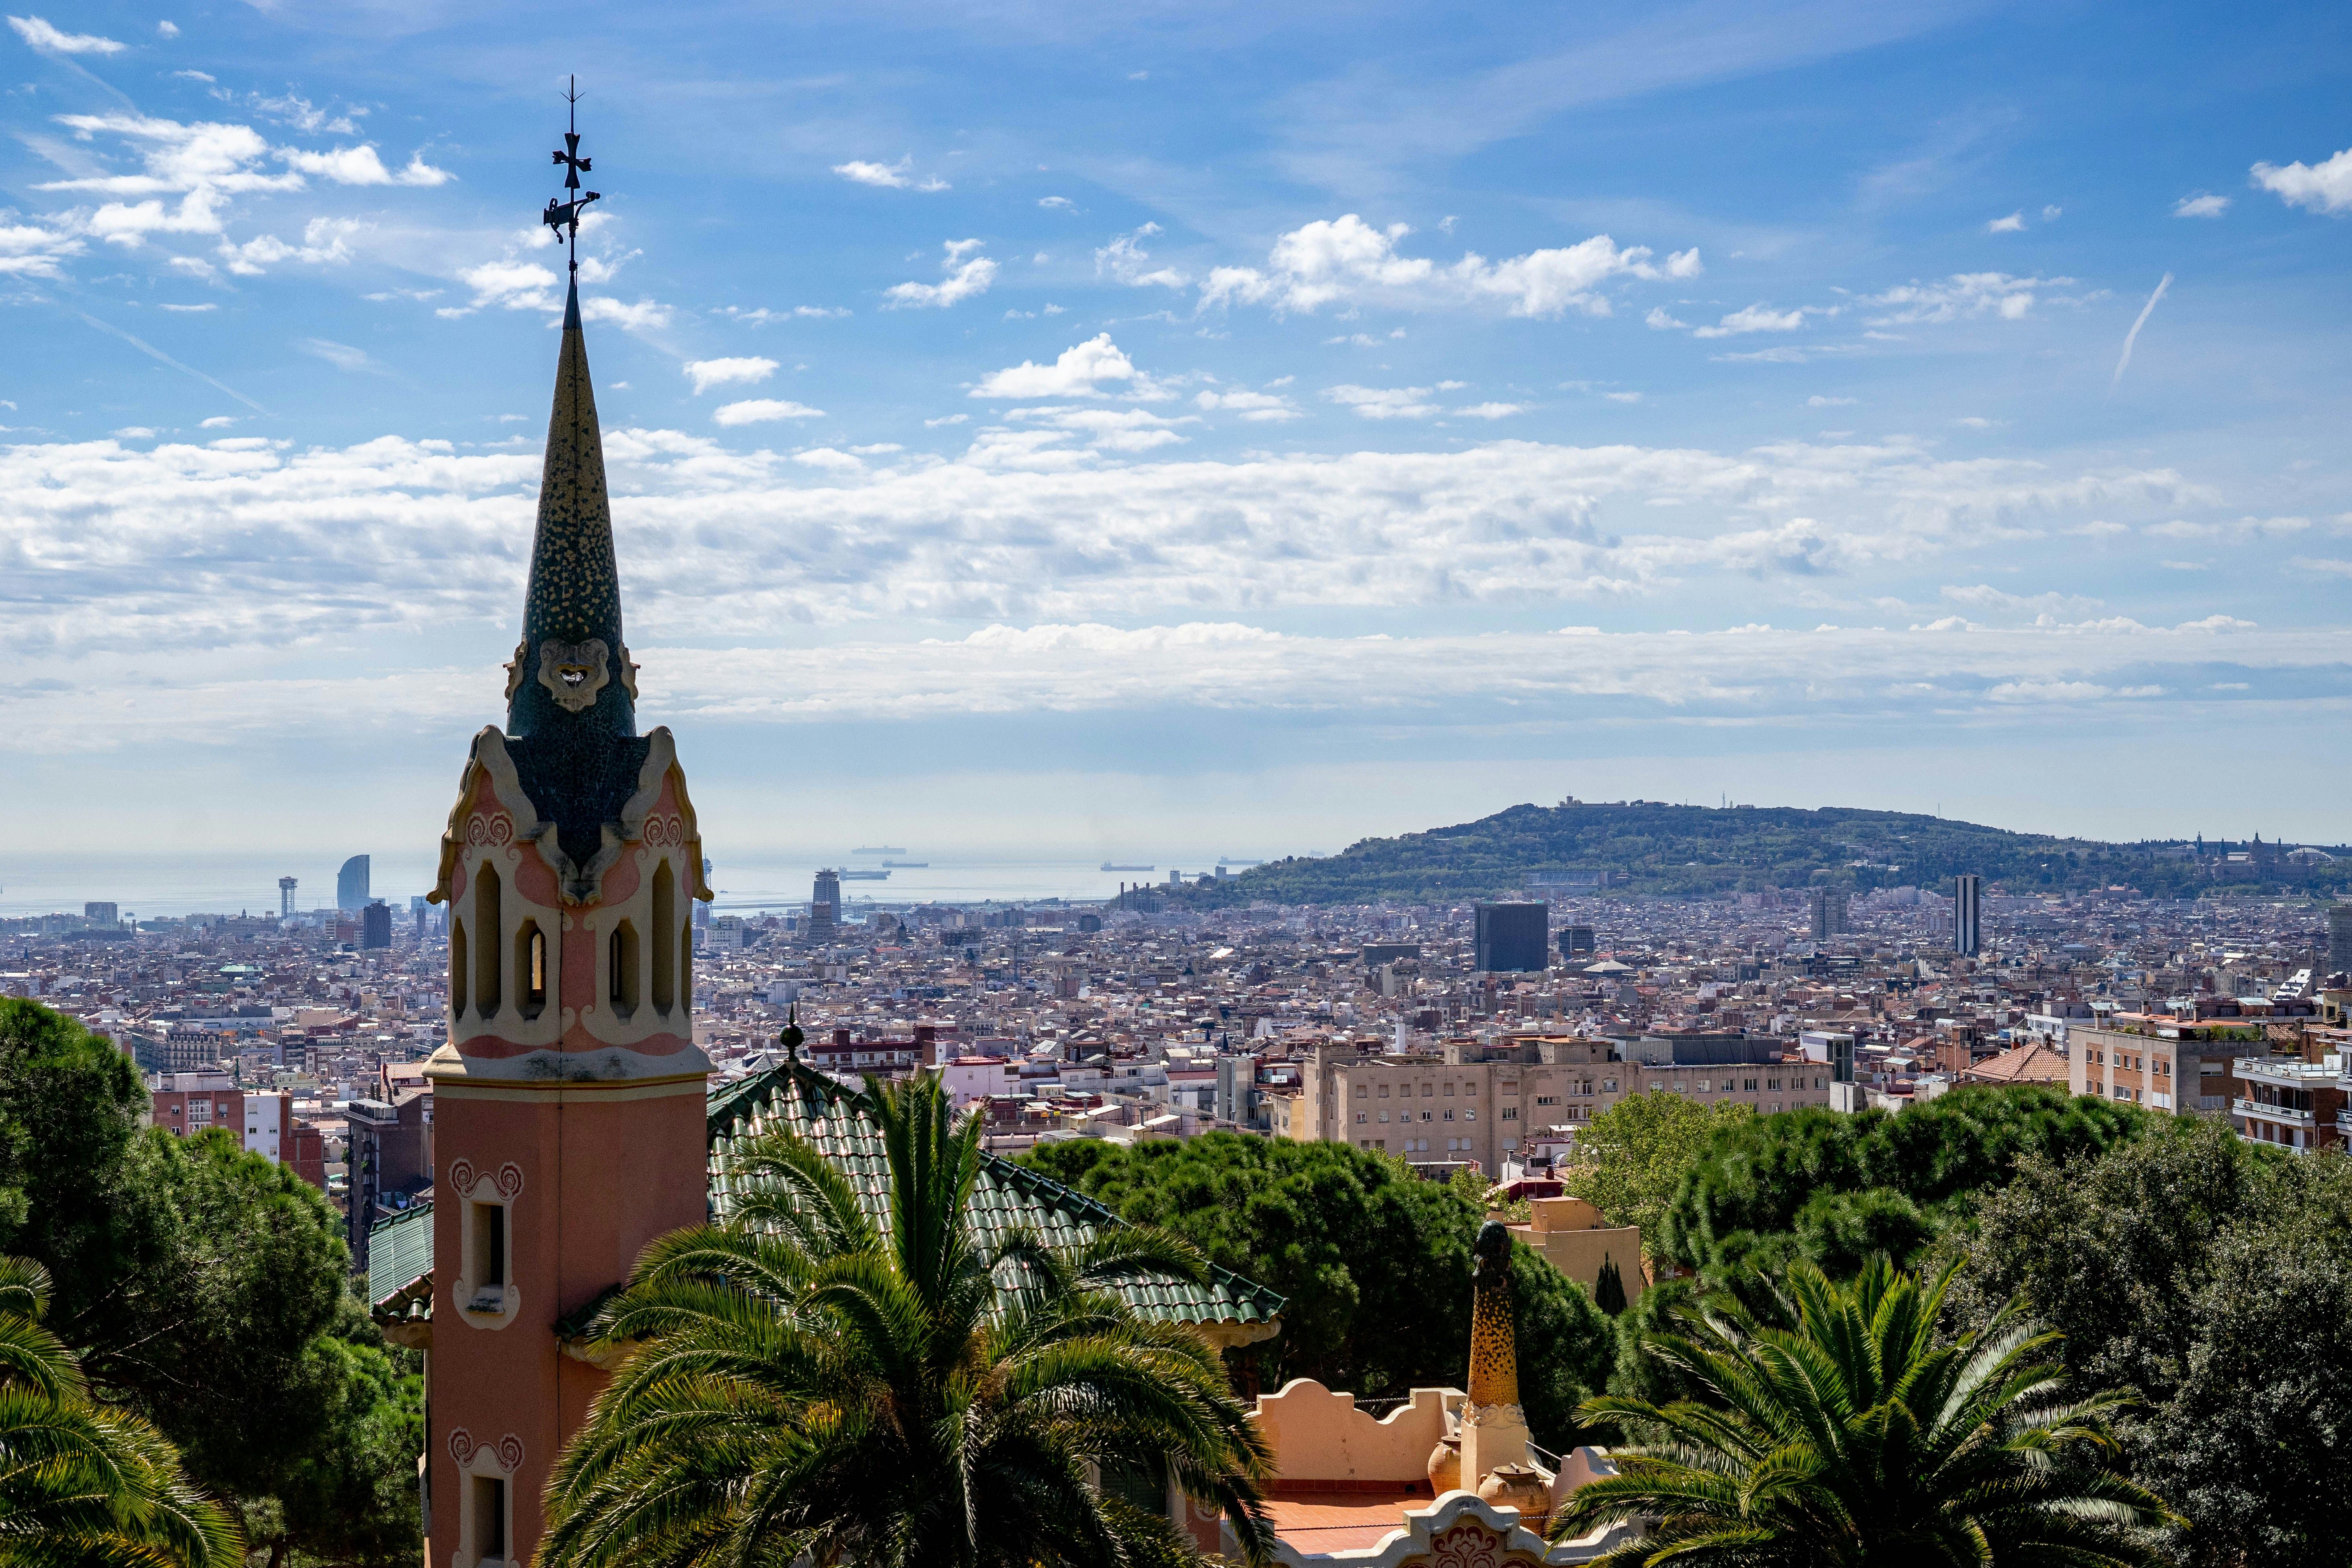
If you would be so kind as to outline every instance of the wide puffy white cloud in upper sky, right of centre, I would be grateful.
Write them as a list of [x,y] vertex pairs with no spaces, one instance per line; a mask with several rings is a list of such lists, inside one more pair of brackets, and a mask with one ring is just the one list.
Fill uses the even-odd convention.
[[1416,310],[1489,303],[1508,315],[1538,317],[1566,310],[1609,315],[1609,299],[1599,289],[1613,277],[1696,277],[1703,270],[1696,249],[1651,266],[1646,247],[1618,249],[1609,235],[1505,261],[1465,252],[1461,261],[1439,266],[1397,249],[1409,233],[1406,223],[1374,228],[1352,212],[1317,219],[1279,235],[1263,270],[1214,268],[1200,299],[1204,308],[1268,303],[1298,313],[1362,301]]

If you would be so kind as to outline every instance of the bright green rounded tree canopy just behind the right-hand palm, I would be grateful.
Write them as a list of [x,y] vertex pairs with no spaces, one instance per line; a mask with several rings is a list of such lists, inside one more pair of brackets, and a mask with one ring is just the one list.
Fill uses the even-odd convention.
[[1689,1161],[1651,1246],[1717,1281],[1795,1258],[1835,1276],[1872,1253],[1910,1262],[1947,1227],[1966,1227],[1978,1194],[2006,1185],[2023,1157],[2096,1154],[2145,1126],[2136,1105],[1999,1086],[1903,1112],[1755,1117],[1719,1128]]

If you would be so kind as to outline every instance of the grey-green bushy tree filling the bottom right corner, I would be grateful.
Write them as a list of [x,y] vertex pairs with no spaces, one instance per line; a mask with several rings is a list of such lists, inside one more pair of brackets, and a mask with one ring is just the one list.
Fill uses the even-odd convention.
[[2220,1119],[2096,1159],[2027,1159],[1983,1204],[1959,1321],[2009,1293],[2065,1331],[2077,1378],[2140,1394],[2117,1436],[2194,1521],[2180,1556],[2352,1561],[2352,1159],[2286,1157]]

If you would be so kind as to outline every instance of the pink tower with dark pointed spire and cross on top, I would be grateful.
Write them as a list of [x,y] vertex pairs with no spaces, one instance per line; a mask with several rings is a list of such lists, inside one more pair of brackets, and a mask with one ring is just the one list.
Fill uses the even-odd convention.
[[[588,160],[564,136],[572,188]],[[579,207],[548,221],[576,235]],[[564,1439],[604,1373],[586,1309],[654,1237],[706,1218],[689,905],[701,830],[637,668],[579,275],[564,301],[506,729],[459,778],[433,903],[449,907],[449,1044],[433,1081],[428,1568],[529,1561]]]

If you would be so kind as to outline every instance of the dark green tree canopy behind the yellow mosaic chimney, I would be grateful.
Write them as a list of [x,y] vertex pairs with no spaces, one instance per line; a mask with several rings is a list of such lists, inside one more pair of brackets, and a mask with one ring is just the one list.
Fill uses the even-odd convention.
[[[1134,1147],[1073,1138],[1025,1164],[1287,1298],[1279,1335],[1225,1352],[1244,1385],[1315,1378],[1359,1396],[1463,1387],[1484,1199],[1388,1154],[1240,1133]],[[1606,1387],[1616,1338],[1583,1286],[1529,1248],[1512,1248],[1510,1276],[1529,1429],[1550,1448],[1573,1446],[1576,1406]]]

